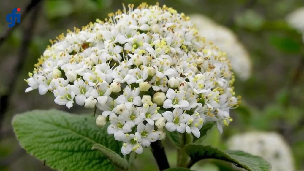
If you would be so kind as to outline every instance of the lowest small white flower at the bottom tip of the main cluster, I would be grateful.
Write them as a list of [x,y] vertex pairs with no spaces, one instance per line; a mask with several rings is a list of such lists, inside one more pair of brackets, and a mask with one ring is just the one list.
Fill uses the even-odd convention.
[[127,134],[125,137],[123,146],[121,147],[121,153],[123,155],[130,154],[132,151],[137,154],[141,154],[143,152],[143,147],[138,142],[137,137],[134,134]]

